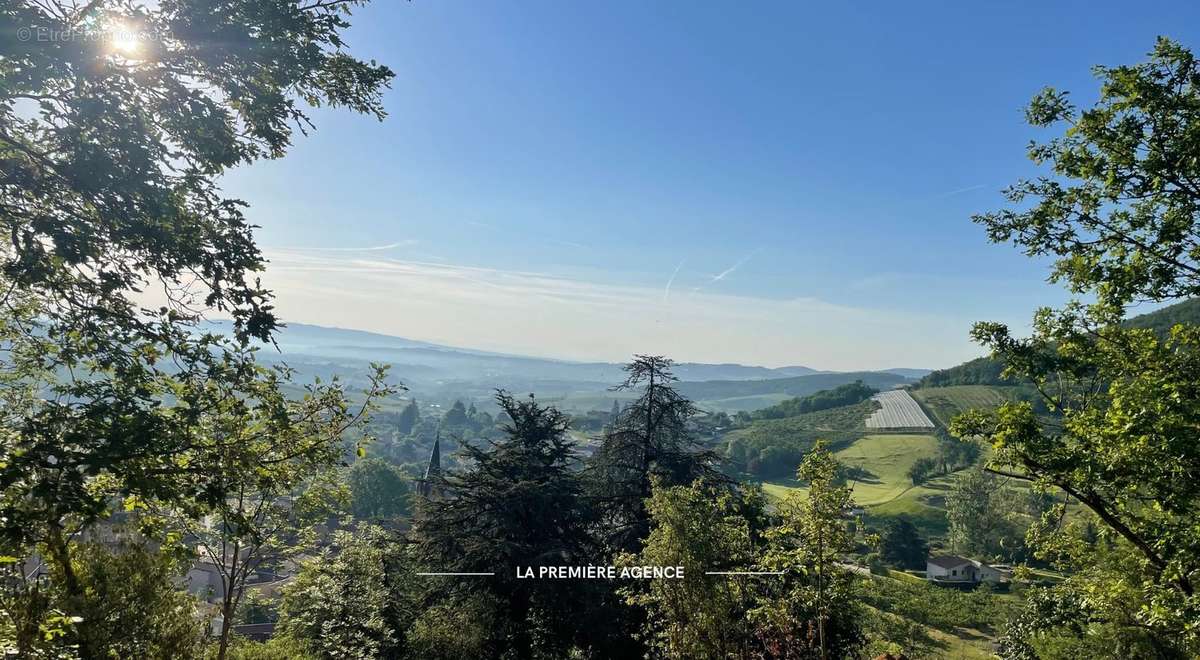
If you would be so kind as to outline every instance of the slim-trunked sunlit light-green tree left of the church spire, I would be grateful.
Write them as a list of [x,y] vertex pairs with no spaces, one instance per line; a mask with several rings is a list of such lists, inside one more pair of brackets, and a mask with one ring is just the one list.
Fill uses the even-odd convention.
[[[230,402],[220,414],[197,420],[218,440],[206,458],[220,472],[205,482],[222,497],[130,500],[161,512],[181,538],[198,540],[202,558],[217,568],[223,582],[218,660],[228,650],[250,576],[302,552],[314,527],[338,509],[332,468],[344,451],[344,434],[364,428],[376,401],[395,391],[384,383],[388,368],[372,366],[356,408],[346,404],[336,380],[332,389],[312,385],[294,400],[268,378],[254,406]],[[362,436],[361,442],[370,440]],[[154,518],[146,522],[152,527]]]

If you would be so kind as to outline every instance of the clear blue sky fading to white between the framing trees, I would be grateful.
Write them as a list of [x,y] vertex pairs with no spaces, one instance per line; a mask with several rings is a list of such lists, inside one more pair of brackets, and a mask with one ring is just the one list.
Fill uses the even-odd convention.
[[[230,174],[286,320],[572,359],[940,367],[1064,294],[972,212],[1022,106],[1192,2],[377,1],[384,122]],[[983,5],[983,4],[979,4]],[[1002,5],[1002,6],[1001,6]],[[366,250],[377,248],[377,250]],[[670,286],[668,286],[670,283]]]

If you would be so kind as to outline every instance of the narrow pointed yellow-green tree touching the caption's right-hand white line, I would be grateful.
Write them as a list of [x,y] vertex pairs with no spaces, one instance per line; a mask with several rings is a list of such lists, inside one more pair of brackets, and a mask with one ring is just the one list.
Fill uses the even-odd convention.
[[817,443],[797,470],[808,493],[788,494],[766,532],[761,565],[784,575],[766,583],[773,592],[749,616],[770,658],[857,658],[866,643],[853,578],[836,566],[854,547],[845,520],[853,499],[838,472],[833,452]]

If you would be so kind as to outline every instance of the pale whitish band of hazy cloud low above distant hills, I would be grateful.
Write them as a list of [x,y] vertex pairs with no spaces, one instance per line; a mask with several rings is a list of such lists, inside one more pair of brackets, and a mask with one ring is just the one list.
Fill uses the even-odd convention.
[[683,262],[666,286],[634,286],[371,252],[268,257],[264,283],[276,292],[284,320],[486,350],[588,360],[649,352],[842,370],[938,366],[977,352],[966,338],[970,319],[938,314],[712,292],[664,305]]

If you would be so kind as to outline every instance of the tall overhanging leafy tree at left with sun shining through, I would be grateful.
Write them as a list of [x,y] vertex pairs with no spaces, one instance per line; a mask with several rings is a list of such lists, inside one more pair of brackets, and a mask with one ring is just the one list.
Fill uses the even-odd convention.
[[[229,496],[224,474],[256,464],[204,421],[286,380],[254,364],[250,342],[268,341],[276,319],[245,204],[217,181],[282,156],[293,127],[312,126],[305,104],[383,116],[391,72],[344,50],[354,4],[0,8],[30,34],[144,35],[136,48],[96,35],[0,46],[0,544],[16,556],[41,545],[65,616],[88,599],[76,532],[114,502],[212,505]],[[145,307],[146,292],[161,306]],[[211,311],[233,318],[233,338],[202,331]],[[336,389],[313,401],[311,420],[343,404]],[[78,622],[84,656],[108,653],[86,646],[94,625]]]

